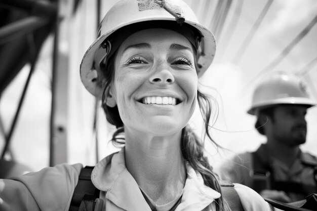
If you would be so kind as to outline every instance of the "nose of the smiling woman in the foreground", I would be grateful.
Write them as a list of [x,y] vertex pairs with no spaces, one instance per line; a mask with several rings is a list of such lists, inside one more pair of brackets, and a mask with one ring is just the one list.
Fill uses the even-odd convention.
[[150,77],[150,82],[160,84],[170,84],[175,81],[174,75],[168,64],[159,64],[154,66],[154,72]]

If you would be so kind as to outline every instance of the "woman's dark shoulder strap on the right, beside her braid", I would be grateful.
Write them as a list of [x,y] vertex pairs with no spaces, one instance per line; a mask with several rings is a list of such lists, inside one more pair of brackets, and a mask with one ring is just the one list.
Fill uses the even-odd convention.
[[229,204],[231,210],[244,211],[239,195],[234,189],[234,185],[229,181],[220,181],[221,192],[224,199]]

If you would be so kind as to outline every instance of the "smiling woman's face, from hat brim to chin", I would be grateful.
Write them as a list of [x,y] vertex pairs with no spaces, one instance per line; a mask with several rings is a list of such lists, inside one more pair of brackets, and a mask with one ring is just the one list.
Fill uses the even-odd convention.
[[190,42],[170,29],[145,29],[130,35],[114,58],[114,76],[104,96],[107,106],[117,106],[125,135],[160,134],[167,142],[171,137],[166,135],[179,137],[196,102]]

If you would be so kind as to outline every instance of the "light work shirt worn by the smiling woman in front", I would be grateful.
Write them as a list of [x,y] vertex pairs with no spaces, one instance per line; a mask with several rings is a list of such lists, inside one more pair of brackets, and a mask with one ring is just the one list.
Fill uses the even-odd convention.
[[[102,159],[92,172],[100,189],[103,210],[151,211],[140,188],[125,165],[124,148]],[[59,164],[35,173],[0,180],[0,210],[68,210],[82,164]],[[210,211],[220,193],[204,185],[200,173],[187,163],[187,179],[176,211]],[[245,210],[268,211],[270,206],[252,189],[235,184]]]

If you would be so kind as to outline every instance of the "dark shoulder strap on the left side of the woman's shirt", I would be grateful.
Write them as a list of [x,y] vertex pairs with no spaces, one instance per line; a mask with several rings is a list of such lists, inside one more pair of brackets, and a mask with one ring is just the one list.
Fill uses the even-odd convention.
[[[94,210],[96,199],[99,198],[100,191],[91,181],[91,173],[93,168],[94,166],[86,166],[82,168],[78,178],[78,183],[72,195],[69,211]],[[97,201],[100,202],[100,199]]]

